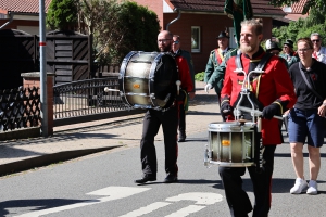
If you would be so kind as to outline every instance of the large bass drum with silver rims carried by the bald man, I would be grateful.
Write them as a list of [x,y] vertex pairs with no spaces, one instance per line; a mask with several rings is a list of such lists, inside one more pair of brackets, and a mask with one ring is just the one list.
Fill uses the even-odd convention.
[[120,94],[135,108],[168,108],[176,95],[178,71],[171,53],[129,52],[120,69]]

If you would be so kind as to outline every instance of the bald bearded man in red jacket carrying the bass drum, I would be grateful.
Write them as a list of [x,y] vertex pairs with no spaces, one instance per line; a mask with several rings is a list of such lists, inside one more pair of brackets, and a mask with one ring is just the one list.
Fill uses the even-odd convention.
[[[158,47],[161,52],[172,51],[173,35],[163,30],[158,35]],[[142,168],[142,178],[135,180],[136,183],[146,183],[156,180],[158,159],[154,145],[154,137],[158,135],[162,125],[165,145],[165,183],[176,182],[178,180],[178,103],[183,103],[186,94],[193,89],[189,73],[187,60],[183,56],[175,58],[178,67],[178,77],[181,81],[179,94],[176,101],[168,110],[148,110],[143,117],[142,136],[140,141],[140,159]]]

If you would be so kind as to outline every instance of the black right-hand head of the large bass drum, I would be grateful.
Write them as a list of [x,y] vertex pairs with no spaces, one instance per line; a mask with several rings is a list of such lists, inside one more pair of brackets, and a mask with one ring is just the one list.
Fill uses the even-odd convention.
[[151,93],[154,92],[154,102],[162,108],[170,107],[176,97],[176,80],[178,79],[177,65],[174,58],[165,53],[161,56],[154,72],[154,82]]

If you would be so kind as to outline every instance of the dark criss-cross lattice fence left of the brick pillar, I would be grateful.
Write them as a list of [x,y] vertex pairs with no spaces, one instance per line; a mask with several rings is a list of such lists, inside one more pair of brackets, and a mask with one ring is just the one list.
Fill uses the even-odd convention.
[[0,90],[0,131],[39,125],[39,88]]

